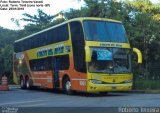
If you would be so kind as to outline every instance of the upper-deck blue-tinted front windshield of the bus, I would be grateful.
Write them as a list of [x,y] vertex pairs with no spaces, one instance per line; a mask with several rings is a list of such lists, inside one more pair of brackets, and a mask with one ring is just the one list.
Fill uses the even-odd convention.
[[124,26],[121,23],[85,20],[86,40],[127,43]]

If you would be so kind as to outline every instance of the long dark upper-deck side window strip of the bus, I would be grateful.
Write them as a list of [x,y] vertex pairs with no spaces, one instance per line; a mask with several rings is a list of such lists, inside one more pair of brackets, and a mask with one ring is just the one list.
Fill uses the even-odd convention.
[[14,51],[25,50],[46,46],[48,44],[67,41],[69,39],[68,24],[38,33],[30,38],[14,43]]

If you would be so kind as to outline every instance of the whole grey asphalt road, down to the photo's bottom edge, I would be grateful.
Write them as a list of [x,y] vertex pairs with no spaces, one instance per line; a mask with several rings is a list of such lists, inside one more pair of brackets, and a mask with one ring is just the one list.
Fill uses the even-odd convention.
[[[132,111],[123,111],[126,107]],[[141,107],[158,107],[158,111],[143,112]],[[0,91],[0,113],[160,113],[160,94],[66,95],[61,91],[10,88],[10,91]]]

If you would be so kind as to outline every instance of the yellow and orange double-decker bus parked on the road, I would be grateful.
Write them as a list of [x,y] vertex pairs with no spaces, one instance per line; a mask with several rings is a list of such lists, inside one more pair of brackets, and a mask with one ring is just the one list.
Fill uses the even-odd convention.
[[73,91],[108,92],[132,89],[131,48],[122,22],[75,18],[14,43],[13,79],[32,86]]

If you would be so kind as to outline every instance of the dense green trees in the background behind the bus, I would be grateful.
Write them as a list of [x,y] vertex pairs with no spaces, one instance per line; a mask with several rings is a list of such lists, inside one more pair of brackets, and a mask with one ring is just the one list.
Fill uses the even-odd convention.
[[47,15],[37,10],[37,15],[23,14],[24,18],[12,21],[19,26],[19,21],[29,24],[22,30],[10,30],[0,27],[0,76],[8,75],[12,83],[12,55],[15,40],[38,32],[76,17],[102,17],[123,22],[132,47],[142,51],[143,64],[136,63],[133,55],[134,89],[160,89],[160,3],[150,0],[84,0],[86,5],[79,10],[70,9],[57,15]]

